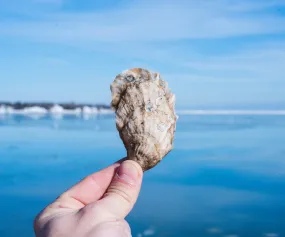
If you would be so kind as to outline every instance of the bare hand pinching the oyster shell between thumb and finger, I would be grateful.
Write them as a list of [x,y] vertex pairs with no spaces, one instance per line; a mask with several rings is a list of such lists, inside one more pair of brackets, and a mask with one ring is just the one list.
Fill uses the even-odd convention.
[[63,193],[35,219],[37,237],[131,237],[124,218],[137,200],[143,171],[124,161]]

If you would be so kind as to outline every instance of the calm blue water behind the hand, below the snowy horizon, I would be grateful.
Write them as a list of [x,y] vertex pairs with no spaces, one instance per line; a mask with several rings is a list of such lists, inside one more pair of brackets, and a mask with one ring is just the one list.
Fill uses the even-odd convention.
[[[112,116],[0,117],[0,236],[124,157]],[[134,237],[285,236],[285,116],[181,116],[175,149],[145,174]]]

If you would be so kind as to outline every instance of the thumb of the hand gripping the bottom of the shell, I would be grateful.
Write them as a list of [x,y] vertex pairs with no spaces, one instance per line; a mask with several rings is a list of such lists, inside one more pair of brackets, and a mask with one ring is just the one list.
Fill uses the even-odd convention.
[[142,183],[143,171],[138,163],[124,161],[117,169],[104,197],[96,205],[118,219],[124,219],[132,210]]

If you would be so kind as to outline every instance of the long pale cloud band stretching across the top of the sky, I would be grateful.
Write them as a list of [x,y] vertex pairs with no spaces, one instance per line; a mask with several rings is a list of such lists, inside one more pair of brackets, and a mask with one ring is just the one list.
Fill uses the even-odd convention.
[[[117,10],[49,13],[34,22],[2,22],[0,35],[82,43],[172,41],[285,32],[285,18],[282,16],[248,14],[256,5],[258,3],[242,1],[233,8],[230,1],[220,0],[207,3],[144,1]],[[233,14],[233,9],[239,10]]]

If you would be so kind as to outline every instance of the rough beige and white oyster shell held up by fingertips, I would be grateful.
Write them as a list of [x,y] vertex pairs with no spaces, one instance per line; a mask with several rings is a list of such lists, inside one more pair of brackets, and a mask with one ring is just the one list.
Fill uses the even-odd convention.
[[134,68],[119,74],[111,84],[116,126],[127,159],[148,170],[172,149],[177,116],[175,96],[159,73]]

